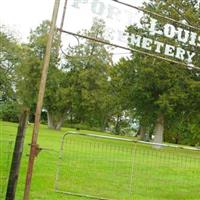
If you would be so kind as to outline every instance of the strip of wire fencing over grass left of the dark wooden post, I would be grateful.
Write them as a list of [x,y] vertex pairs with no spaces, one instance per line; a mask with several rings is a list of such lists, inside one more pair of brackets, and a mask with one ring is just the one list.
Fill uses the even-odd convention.
[[0,199],[5,198],[10,164],[12,159],[13,142],[0,140]]

